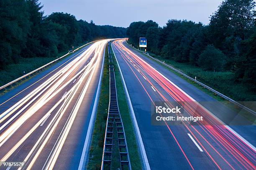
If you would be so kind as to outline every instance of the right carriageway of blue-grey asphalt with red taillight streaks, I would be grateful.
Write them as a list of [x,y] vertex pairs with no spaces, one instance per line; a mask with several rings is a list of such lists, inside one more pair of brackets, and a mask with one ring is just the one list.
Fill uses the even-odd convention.
[[[125,40],[114,41],[112,48],[152,170],[255,169],[255,125],[129,47]],[[151,108],[159,101],[167,107],[182,101],[188,115],[203,116],[204,122],[152,125]]]

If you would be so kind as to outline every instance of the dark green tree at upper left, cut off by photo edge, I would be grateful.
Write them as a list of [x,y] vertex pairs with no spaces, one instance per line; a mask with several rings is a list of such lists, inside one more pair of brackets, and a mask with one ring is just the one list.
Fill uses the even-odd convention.
[[0,68],[17,62],[30,30],[24,0],[0,1]]

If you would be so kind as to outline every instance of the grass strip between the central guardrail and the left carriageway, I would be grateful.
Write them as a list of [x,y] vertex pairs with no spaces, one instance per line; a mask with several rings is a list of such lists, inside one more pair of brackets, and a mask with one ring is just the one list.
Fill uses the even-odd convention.
[[100,170],[102,153],[105,138],[105,129],[108,117],[109,104],[109,62],[108,47],[105,49],[105,59],[103,66],[102,82],[100,87],[100,97],[97,106],[95,125],[92,133],[92,144],[90,147],[89,162],[87,170]]

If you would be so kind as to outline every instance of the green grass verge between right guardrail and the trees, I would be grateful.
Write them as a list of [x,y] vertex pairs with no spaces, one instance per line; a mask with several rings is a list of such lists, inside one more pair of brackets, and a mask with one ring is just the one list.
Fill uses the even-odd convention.
[[158,60],[165,61],[166,64],[171,65],[177,70],[182,71],[189,77],[197,77],[198,81],[204,83],[205,85],[208,85],[209,87],[214,88],[218,92],[221,92],[222,94],[232,98],[233,100],[256,101],[255,93],[252,93],[251,90],[242,83],[234,82],[236,77],[235,73],[233,72],[207,71],[203,70],[200,67],[190,65],[189,63],[176,62],[174,60],[169,60],[150,52],[149,54]]

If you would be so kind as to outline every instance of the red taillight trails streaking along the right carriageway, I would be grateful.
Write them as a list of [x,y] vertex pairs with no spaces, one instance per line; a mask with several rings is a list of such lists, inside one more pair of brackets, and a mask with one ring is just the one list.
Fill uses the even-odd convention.
[[[212,112],[203,107],[189,96],[187,92],[174,84],[172,80],[169,80],[124,44],[125,40],[113,42],[114,51],[120,56],[119,60],[122,60],[123,65],[126,65],[135,79],[138,80],[153,105],[155,102],[153,98],[158,98],[159,101],[165,102],[166,107],[174,108],[175,106],[169,100],[172,99],[180,102],[180,105],[188,113],[188,117],[203,118],[203,121],[196,121],[195,125],[189,125],[190,121],[188,119],[182,119],[181,122],[187,131],[186,133],[198,143],[200,149],[202,148],[202,151],[207,154],[208,158],[218,169],[225,167],[230,169],[255,169],[256,149],[253,145],[244,140],[240,135],[237,135]],[[152,90],[153,92],[151,92]],[[154,105],[155,107],[156,105]],[[161,117],[161,113],[158,116]],[[190,167],[194,169],[190,161],[192,158],[187,156],[180,141],[177,140],[177,136],[174,135],[172,126],[168,125],[166,121],[164,121],[164,125],[171,133]]]

